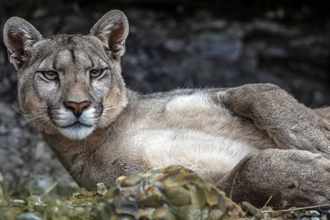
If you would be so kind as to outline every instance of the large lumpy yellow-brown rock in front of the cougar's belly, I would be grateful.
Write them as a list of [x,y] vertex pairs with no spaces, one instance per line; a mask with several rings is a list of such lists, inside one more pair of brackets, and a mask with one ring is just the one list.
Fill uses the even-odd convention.
[[92,213],[98,219],[235,218],[238,206],[210,183],[181,166],[121,176]]

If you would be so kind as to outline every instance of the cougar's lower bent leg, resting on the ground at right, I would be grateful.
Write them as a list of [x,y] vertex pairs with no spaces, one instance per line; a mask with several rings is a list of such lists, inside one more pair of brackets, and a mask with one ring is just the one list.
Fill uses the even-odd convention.
[[330,203],[330,159],[305,150],[267,149],[245,157],[217,184],[236,202],[282,207]]

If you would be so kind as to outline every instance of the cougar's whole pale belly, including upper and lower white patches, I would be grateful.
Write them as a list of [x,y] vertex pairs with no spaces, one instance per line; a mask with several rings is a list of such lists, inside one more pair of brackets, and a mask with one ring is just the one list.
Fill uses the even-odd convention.
[[182,165],[211,183],[247,154],[276,143],[252,121],[215,103],[211,94],[196,92],[170,100],[159,129],[139,134],[151,168]]

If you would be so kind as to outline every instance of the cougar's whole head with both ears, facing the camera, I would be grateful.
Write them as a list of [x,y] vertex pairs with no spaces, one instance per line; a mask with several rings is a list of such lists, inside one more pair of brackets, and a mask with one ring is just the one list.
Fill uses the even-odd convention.
[[107,13],[88,35],[44,38],[21,18],[7,21],[4,43],[20,104],[38,130],[83,139],[116,119],[127,103],[120,68],[127,34],[120,11]]

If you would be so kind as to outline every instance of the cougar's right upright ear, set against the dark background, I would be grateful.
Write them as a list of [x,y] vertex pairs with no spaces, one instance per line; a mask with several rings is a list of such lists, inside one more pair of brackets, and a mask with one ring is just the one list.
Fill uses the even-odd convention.
[[124,13],[112,10],[96,22],[90,33],[98,37],[106,50],[116,60],[125,53],[125,40],[128,35],[128,21]]

